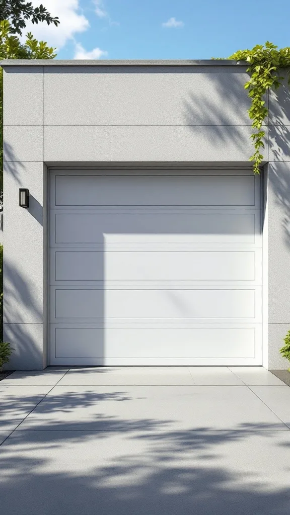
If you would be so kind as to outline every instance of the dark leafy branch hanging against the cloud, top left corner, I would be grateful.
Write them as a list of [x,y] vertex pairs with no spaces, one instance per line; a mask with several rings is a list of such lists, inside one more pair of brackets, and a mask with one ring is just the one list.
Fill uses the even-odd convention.
[[46,22],[47,25],[50,23],[58,25],[58,16],[53,18],[42,4],[39,7],[33,7],[31,4],[31,2],[25,3],[25,0],[0,0],[0,21],[10,20],[12,34],[21,36],[22,29],[26,27],[26,20],[36,24]]

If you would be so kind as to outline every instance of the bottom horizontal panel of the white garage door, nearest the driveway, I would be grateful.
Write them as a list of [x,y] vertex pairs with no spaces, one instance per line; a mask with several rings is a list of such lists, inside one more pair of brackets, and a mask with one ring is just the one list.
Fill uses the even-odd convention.
[[[257,334],[256,334],[257,333]],[[259,326],[190,329],[53,327],[56,358],[250,358]],[[178,345],[176,345],[178,342]],[[117,363],[117,361],[116,361]],[[139,361],[139,364],[142,364]]]

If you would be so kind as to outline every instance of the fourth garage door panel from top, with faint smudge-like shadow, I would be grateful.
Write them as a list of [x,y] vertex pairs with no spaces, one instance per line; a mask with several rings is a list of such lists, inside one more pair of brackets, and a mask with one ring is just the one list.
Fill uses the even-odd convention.
[[[254,319],[255,289],[73,289],[53,288],[56,319]],[[53,291],[52,291],[53,295]]]

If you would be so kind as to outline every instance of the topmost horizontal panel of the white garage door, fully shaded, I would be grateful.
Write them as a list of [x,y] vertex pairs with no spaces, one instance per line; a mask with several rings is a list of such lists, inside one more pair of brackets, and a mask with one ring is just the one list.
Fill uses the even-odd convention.
[[[237,176],[56,175],[55,205],[255,206],[255,178]],[[77,196],[75,192],[77,191]],[[259,197],[258,197],[259,198]]]

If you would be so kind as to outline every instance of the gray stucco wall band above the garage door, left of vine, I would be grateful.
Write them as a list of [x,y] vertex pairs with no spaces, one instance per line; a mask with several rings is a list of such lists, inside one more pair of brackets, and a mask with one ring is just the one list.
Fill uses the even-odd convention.
[[244,66],[7,67],[6,159],[247,161],[245,71]]

